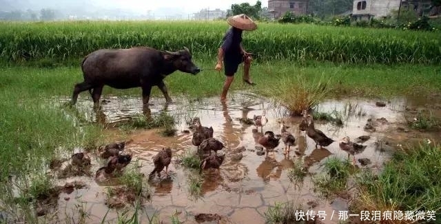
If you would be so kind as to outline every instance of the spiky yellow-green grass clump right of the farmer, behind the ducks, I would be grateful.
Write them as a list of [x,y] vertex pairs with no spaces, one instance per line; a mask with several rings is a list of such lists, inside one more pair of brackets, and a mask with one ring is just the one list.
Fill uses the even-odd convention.
[[268,83],[261,92],[273,99],[277,107],[281,105],[291,114],[300,115],[303,110],[310,110],[325,99],[329,81],[323,75],[311,81],[304,74],[284,76]]

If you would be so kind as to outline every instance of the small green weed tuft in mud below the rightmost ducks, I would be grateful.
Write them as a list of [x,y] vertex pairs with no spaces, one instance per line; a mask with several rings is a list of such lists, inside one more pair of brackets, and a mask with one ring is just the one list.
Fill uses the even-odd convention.
[[316,189],[318,188],[324,196],[345,190],[351,163],[346,159],[340,160],[334,156],[327,159],[323,167],[326,174],[319,174],[313,178]]

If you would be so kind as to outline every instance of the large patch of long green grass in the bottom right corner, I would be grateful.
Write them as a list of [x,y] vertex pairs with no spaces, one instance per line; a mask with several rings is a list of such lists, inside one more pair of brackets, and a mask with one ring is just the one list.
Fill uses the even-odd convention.
[[441,145],[430,141],[393,155],[379,174],[362,172],[357,179],[356,207],[369,211],[441,212]]

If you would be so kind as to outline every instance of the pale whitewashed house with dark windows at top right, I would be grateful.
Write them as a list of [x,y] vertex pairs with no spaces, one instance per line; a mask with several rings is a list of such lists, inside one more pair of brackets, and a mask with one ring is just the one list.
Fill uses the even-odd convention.
[[355,20],[369,20],[371,18],[385,18],[392,10],[415,10],[421,15],[423,10],[430,7],[430,0],[354,0],[352,18]]

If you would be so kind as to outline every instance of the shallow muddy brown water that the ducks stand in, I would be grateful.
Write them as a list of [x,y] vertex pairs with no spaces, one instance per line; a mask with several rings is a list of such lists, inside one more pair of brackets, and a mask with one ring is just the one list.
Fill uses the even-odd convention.
[[[92,122],[99,122],[109,127],[127,121],[130,116],[141,114],[141,98],[119,98],[106,96],[105,103],[99,113],[92,111],[90,98],[83,96],[79,99],[78,110],[85,114]],[[128,140],[125,150],[132,152],[135,158],[142,163],[141,170],[147,176],[153,170],[152,156],[162,147],[170,146],[174,150],[174,159],[169,170],[173,172],[172,179],[163,181],[155,180],[149,183],[152,190],[152,202],[145,203],[145,212],[141,214],[141,219],[146,220],[145,214],[150,216],[156,211],[160,214],[163,223],[170,223],[170,216],[174,212],[179,212],[180,220],[185,223],[196,223],[194,215],[198,213],[217,213],[227,216],[232,223],[264,223],[264,214],[267,207],[276,202],[296,200],[304,207],[304,211],[312,210],[316,213],[324,211],[326,214],[323,223],[338,223],[338,211],[347,210],[347,196],[337,197],[327,201],[314,193],[314,184],[311,182],[311,175],[305,177],[302,185],[294,185],[287,177],[287,170],[295,163],[304,163],[309,169],[309,174],[319,173],[320,164],[331,156],[347,158],[347,153],[338,147],[338,139],[349,136],[351,140],[358,136],[367,135],[370,139],[363,143],[367,148],[356,155],[356,159],[369,159],[371,164],[367,165],[371,169],[378,170],[382,163],[389,159],[390,152],[403,144],[411,141],[418,141],[421,138],[439,137],[431,133],[404,132],[398,127],[406,128],[403,112],[409,105],[419,107],[418,103],[413,103],[404,98],[393,99],[385,102],[384,107],[376,106],[376,101],[367,99],[338,99],[328,100],[318,105],[318,110],[322,112],[337,111],[342,114],[343,125],[338,127],[329,122],[315,121],[316,128],[322,130],[327,136],[336,140],[328,147],[316,149],[315,143],[305,135],[305,132],[298,130],[300,117],[284,116],[283,108],[273,108],[265,99],[238,92],[232,100],[223,105],[217,97],[203,99],[202,101],[187,102],[184,99],[176,99],[176,103],[164,107],[162,98],[151,99],[150,113],[156,114],[162,110],[167,110],[174,114],[178,119],[177,134],[172,137],[162,137],[158,130],[136,130],[128,136],[114,139]],[[255,149],[256,141],[261,133],[252,130],[254,125],[240,123],[240,118],[250,118],[256,114],[260,115],[263,109],[267,112],[269,122],[263,127],[263,132],[271,130],[275,134],[280,134],[277,119],[283,119],[289,125],[288,131],[296,137],[296,147],[298,154],[291,151],[289,156],[283,154],[283,142],[276,148],[278,152],[269,153],[268,158],[258,156]],[[220,175],[216,172],[205,172],[203,177],[203,197],[196,200],[189,196],[187,192],[187,180],[192,170],[181,167],[174,161],[177,155],[186,150],[195,152],[196,147],[191,143],[192,134],[186,134],[184,130],[189,130],[185,123],[185,117],[198,116],[204,126],[214,128],[214,137],[223,141],[229,148],[227,159],[220,168]],[[377,121],[384,118],[387,122]],[[371,119],[372,125],[376,128],[375,132],[366,131],[367,120]],[[112,128],[109,129],[112,132]],[[260,128],[259,128],[260,131]],[[378,147],[376,142],[382,141],[383,147]],[[385,146],[384,146],[385,145]],[[237,147],[246,148],[243,159],[232,161],[229,152]],[[98,163],[92,160],[92,164]],[[358,167],[362,167],[356,161]],[[92,167],[95,171],[98,164]],[[70,179],[71,180],[71,179]],[[105,185],[96,183],[94,179],[82,177],[82,181],[89,185],[83,190],[76,190],[72,195],[60,195],[59,213],[72,214],[69,212],[77,210],[75,207],[79,202],[85,202],[85,210],[90,214],[88,223],[101,223],[103,216],[108,208],[105,201]],[[70,198],[66,201],[65,198]],[[317,202],[314,208],[309,208],[308,203]],[[334,212],[334,215],[333,215]],[[116,210],[110,210],[107,214],[107,221],[115,220]],[[333,216],[332,220],[330,220]]]

